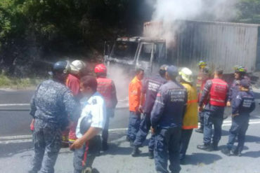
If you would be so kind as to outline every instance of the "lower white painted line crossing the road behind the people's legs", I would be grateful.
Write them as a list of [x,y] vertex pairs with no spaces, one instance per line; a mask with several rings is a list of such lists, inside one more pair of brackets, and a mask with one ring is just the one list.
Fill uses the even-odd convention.
[[[250,120],[249,125],[253,124],[260,124],[260,120]],[[223,122],[222,126],[230,126],[231,121],[226,120]],[[125,132],[127,128],[116,128],[116,129],[110,129],[108,132],[110,134],[117,134],[120,132]],[[25,143],[25,142],[31,142],[32,141],[32,134],[30,135],[20,135],[20,136],[10,136],[10,137],[0,137],[0,144],[18,144],[18,143]]]

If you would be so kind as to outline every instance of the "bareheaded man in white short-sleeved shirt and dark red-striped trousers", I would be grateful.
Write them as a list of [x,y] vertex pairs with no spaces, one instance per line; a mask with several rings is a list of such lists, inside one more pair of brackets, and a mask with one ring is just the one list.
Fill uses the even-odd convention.
[[80,81],[84,105],[77,123],[77,140],[70,146],[74,149],[74,173],[91,172],[93,161],[100,153],[101,140],[98,134],[105,127],[106,108],[97,87],[93,76],[84,76]]

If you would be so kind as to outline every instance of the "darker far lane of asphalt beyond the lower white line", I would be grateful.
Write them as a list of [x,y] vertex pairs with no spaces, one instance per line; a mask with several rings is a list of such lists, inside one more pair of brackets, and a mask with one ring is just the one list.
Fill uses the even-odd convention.
[[[30,103],[33,93],[34,90],[0,90],[0,137],[31,134],[29,126],[32,117],[28,111],[30,106],[27,104]],[[259,93],[256,93],[256,98],[260,98]],[[110,129],[127,127],[129,111],[122,106],[126,106],[125,101],[119,102],[121,108],[116,109],[115,117],[110,119]],[[1,111],[3,109],[18,111]],[[230,115],[230,109],[227,108],[225,113],[226,116]],[[251,118],[260,119],[259,104],[256,104],[256,110],[252,113]],[[227,120],[230,120],[230,118]]]

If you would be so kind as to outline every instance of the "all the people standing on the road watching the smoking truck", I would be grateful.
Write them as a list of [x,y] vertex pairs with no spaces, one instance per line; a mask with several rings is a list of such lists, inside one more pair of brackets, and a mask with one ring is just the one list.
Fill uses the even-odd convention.
[[[238,137],[233,153],[241,155],[249,113],[255,107],[245,68],[235,69],[235,81],[229,88],[222,79],[223,70],[216,69],[211,78],[206,62],[200,62],[199,67],[197,88],[190,69],[166,64],[157,75],[145,78],[145,71],[136,69],[129,83],[126,140],[136,157],[151,132],[149,158],[155,159],[157,172],[168,172],[168,158],[170,171],[181,171],[193,129],[198,127],[198,113],[197,132],[204,133],[204,144],[197,148],[217,150],[225,106],[232,106],[233,111],[228,144],[222,152],[230,155]],[[34,143],[31,173],[54,172],[62,141],[74,151],[74,173],[98,172],[92,164],[101,150],[108,150],[108,126],[115,114],[117,92],[115,83],[107,78],[105,64],[96,65],[94,76],[85,76],[84,69],[86,64],[81,60],[56,62],[52,78],[37,87],[30,111]]]

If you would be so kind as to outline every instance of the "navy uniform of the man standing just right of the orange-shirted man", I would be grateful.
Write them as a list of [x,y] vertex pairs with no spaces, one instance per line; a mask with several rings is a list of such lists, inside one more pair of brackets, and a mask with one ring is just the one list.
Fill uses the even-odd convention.
[[[160,86],[166,82],[166,79],[162,78],[162,76],[159,74],[145,79],[142,88],[142,92],[145,95],[145,104],[143,108],[144,118],[141,120],[140,127],[134,141],[134,146],[139,147],[143,144],[143,141],[145,141],[151,127],[150,113],[152,111],[152,106],[155,104],[156,95]],[[152,134],[152,137],[149,141],[149,151],[153,151],[155,148],[154,139],[155,135]]]

